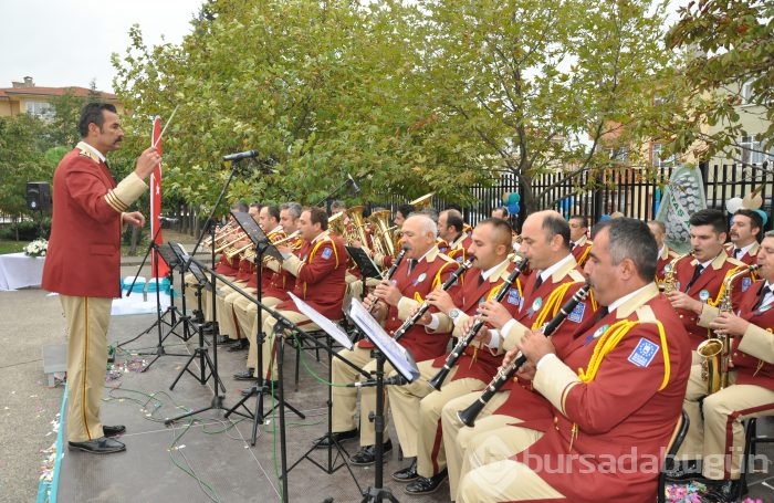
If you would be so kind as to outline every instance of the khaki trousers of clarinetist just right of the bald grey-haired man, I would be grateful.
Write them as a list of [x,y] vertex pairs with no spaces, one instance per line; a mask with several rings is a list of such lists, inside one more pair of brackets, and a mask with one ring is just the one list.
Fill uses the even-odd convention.
[[479,379],[457,379],[453,367],[447,376],[440,391],[427,384],[439,368],[432,367],[432,360],[420,361],[419,379],[406,386],[390,386],[389,399],[393,402],[393,419],[398,432],[398,440],[407,458],[417,457],[417,473],[432,476],[446,468],[446,451],[441,430],[441,410],[451,399],[468,395],[484,387]]

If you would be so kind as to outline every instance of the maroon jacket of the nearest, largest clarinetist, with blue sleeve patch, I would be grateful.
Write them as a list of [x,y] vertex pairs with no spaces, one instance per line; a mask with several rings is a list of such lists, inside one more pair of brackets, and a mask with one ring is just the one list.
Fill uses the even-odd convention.
[[[610,344],[605,333],[623,319],[640,323]],[[610,346],[596,375],[587,383],[571,381],[563,373],[590,371],[599,344]],[[535,388],[550,391],[554,428],[513,459],[530,465],[568,502],[652,502],[691,367],[688,337],[671,304],[650,284],[576,337],[564,364],[566,368],[547,360],[535,376]]]

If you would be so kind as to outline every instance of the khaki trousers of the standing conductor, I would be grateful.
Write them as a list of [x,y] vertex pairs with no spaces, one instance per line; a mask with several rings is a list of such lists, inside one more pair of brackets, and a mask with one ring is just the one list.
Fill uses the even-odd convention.
[[67,440],[104,436],[100,419],[113,298],[60,295],[67,321]]

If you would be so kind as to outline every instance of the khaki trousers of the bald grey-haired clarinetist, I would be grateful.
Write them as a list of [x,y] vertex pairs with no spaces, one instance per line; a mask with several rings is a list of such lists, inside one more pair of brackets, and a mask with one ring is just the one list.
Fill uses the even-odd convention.
[[[356,367],[362,368],[368,374],[376,371],[376,360],[370,356],[370,348],[355,346],[352,350],[342,349],[338,354],[352,361]],[[393,373],[393,366],[385,363],[385,375]],[[331,368],[331,379],[334,384],[331,390],[333,398],[332,428],[335,432],[349,431],[355,429],[355,409],[357,408],[357,388],[348,388],[335,385],[351,385],[357,381],[366,380],[366,378],[352,368],[349,365],[342,361],[339,358],[333,358]],[[388,386],[390,388],[393,386]],[[368,420],[368,412],[376,411],[376,387],[366,386],[360,388],[360,446],[374,446],[376,443],[376,427],[373,421]],[[385,394],[385,429],[384,441],[389,439],[387,425],[389,423],[389,401]]]

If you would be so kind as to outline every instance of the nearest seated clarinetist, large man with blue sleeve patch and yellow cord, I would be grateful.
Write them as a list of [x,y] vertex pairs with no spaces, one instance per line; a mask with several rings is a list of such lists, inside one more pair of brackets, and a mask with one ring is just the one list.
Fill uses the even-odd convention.
[[691,366],[686,329],[653,281],[657,251],[641,221],[600,224],[585,273],[608,313],[564,360],[541,333],[517,346],[554,425],[541,431],[525,421],[473,438],[457,501],[656,500]]

